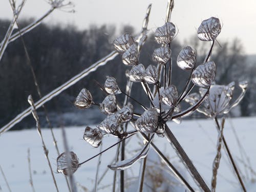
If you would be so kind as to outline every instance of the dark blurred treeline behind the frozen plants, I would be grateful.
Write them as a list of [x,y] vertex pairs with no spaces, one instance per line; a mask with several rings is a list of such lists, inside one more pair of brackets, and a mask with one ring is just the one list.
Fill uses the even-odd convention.
[[[20,21],[21,26],[26,26],[31,20]],[[3,39],[10,21],[0,20],[0,39]],[[121,32],[117,32],[114,26],[107,27],[105,25],[97,27],[91,26],[87,30],[77,30],[74,26],[48,26],[41,24],[31,32],[24,35],[26,47],[38,80],[42,95],[46,95],[53,89],[60,86],[72,78],[83,69],[88,68],[92,63],[113,51],[112,41],[115,37],[123,32],[134,34],[134,29],[131,26],[124,26]],[[136,33],[135,33],[136,34]],[[222,47],[215,45],[215,52],[212,57],[217,64],[217,79],[218,84],[229,83],[232,80],[248,79],[253,81],[253,70],[245,65],[245,56],[243,55],[242,45],[238,40],[232,42],[220,42]],[[204,58],[206,51],[210,45],[208,42],[199,42],[199,39],[192,37],[187,42],[187,45],[194,46],[197,49],[198,64]],[[176,58],[179,51],[185,44],[175,39],[172,43],[173,55],[173,83],[181,92],[188,78],[188,72],[180,70],[176,65]],[[155,48],[159,47],[154,41],[154,34],[149,34],[146,44],[142,48],[139,62],[144,66],[153,64],[152,53]],[[114,76],[122,90],[125,90],[127,79],[124,78],[125,70],[130,69],[123,65],[121,57],[118,56],[110,61],[106,66],[98,68],[97,71],[91,73],[83,80],[77,82],[68,90],[61,93],[56,98],[46,104],[54,122],[54,126],[72,125],[72,122],[67,122],[65,119],[58,119],[58,115],[65,113],[84,113],[81,118],[84,122],[87,120],[90,112],[81,112],[73,106],[73,101],[82,88],[87,88],[91,91],[94,101],[101,102],[104,94],[100,91],[96,81],[103,84],[106,75]],[[254,71],[255,72],[255,71]],[[239,77],[239,78],[238,78]],[[251,86],[250,86],[251,87]],[[244,101],[241,102],[241,115],[247,116],[255,112],[252,101],[253,93],[249,87]],[[27,65],[24,47],[22,41],[17,39],[8,45],[3,59],[0,61],[0,126],[8,123],[17,114],[28,108],[28,95],[32,94],[34,100],[39,97],[36,92],[32,73]],[[140,84],[135,83],[133,96],[143,103],[146,103],[145,94],[140,89]],[[119,96],[122,97],[122,96]],[[39,110],[39,114],[42,110]],[[42,116],[42,115],[41,115]],[[96,122],[102,115],[95,113],[90,116]],[[42,122],[45,122],[43,118]],[[73,125],[80,125],[79,119]],[[46,124],[43,124],[47,126]],[[34,126],[32,118],[26,118],[15,126],[15,129]]]

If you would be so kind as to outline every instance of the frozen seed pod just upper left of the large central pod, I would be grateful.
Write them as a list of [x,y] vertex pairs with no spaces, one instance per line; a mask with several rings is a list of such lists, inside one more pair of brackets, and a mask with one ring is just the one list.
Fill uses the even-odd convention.
[[133,105],[126,104],[122,109],[115,113],[118,124],[129,122],[133,119]]

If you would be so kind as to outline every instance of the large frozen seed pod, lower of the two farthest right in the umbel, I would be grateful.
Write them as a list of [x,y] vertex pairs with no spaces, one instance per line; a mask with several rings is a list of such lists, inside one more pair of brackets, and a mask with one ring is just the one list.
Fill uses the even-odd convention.
[[196,86],[210,86],[216,75],[216,65],[214,61],[205,62],[198,66],[191,75],[191,80]]

